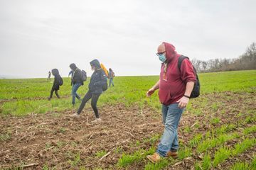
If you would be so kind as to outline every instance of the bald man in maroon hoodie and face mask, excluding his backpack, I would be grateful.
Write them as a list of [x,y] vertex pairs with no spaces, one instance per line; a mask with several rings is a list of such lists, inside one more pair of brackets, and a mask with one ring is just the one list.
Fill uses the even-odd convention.
[[147,156],[151,162],[158,162],[161,157],[178,157],[178,123],[196,82],[193,66],[188,59],[183,60],[179,71],[178,57],[181,55],[175,51],[174,45],[163,42],[156,55],[162,62],[160,79],[146,92],[146,96],[159,89],[165,128],[156,153]]

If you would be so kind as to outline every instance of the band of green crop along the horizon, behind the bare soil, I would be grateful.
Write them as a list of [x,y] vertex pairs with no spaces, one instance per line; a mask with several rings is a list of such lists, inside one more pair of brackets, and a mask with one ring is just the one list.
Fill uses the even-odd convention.
[[[254,92],[256,88],[256,71],[242,72],[217,72],[199,74],[201,80],[201,94],[220,93],[223,91],[232,92]],[[149,105],[153,108],[160,108],[157,93],[151,98],[146,98],[146,91],[159,79],[158,76],[150,77],[116,77],[114,88],[108,89],[100,97],[100,106],[104,104],[124,103],[125,106]],[[80,87],[78,94],[84,96],[87,91],[87,84]],[[47,111],[65,111],[71,106],[70,79],[65,78],[63,86],[60,86],[61,100],[53,98],[47,101],[50,94],[52,82],[46,79],[1,79],[0,100],[1,115],[25,115],[29,113],[46,113]],[[53,95],[54,96],[54,95]]]

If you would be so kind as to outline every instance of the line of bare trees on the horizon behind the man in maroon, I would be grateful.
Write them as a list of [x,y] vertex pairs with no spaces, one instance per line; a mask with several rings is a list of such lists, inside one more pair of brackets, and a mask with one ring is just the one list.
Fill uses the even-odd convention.
[[235,59],[212,59],[208,61],[191,60],[197,72],[226,72],[256,69],[256,43],[247,47],[240,57]]

